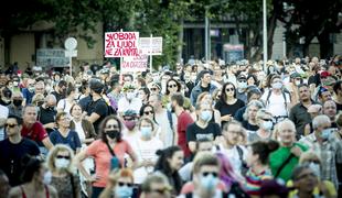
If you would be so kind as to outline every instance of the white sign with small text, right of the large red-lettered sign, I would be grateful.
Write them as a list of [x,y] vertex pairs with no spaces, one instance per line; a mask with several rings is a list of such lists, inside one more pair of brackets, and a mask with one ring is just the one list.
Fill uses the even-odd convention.
[[145,55],[161,55],[162,37],[140,37],[139,50]]

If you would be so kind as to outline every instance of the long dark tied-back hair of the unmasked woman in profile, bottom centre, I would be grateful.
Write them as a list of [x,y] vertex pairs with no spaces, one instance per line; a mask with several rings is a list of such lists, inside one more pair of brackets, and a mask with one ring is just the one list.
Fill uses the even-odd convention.
[[174,153],[179,151],[182,151],[180,146],[170,146],[164,150],[158,150],[156,154],[159,156],[159,158],[154,166],[154,170],[163,173],[169,180],[173,180],[171,184],[174,184],[174,189],[178,194],[181,191],[183,185],[182,179],[178,170],[172,170],[168,160],[172,158]]

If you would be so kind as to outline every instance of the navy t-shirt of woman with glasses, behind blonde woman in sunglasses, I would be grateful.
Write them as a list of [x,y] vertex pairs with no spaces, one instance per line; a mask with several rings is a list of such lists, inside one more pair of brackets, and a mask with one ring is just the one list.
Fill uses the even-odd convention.
[[63,136],[60,131],[55,130],[51,132],[50,140],[53,145],[66,144],[74,151],[82,146],[76,131],[68,131],[67,135]]

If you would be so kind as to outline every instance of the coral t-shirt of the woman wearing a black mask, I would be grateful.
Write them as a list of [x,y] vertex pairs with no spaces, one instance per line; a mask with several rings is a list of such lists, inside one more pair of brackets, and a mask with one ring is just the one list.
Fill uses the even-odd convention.
[[[125,154],[133,154],[131,146],[125,140],[116,143],[113,151],[122,167],[125,165]],[[86,155],[94,157],[96,167],[95,173],[100,176],[98,180],[93,183],[93,186],[106,187],[110,172],[110,160],[113,157],[108,146],[101,140],[96,140],[86,148]]]

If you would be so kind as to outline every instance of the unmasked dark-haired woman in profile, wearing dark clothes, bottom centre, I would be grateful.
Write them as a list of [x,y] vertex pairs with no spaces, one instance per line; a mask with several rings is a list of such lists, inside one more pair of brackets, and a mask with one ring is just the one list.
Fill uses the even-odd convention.
[[156,163],[154,170],[164,174],[173,187],[172,195],[179,195],[183,184],[178,170],[184,163],[183,151],[179,146],[170,146],[164,150],[158,150],[157,155],[159,158]]

